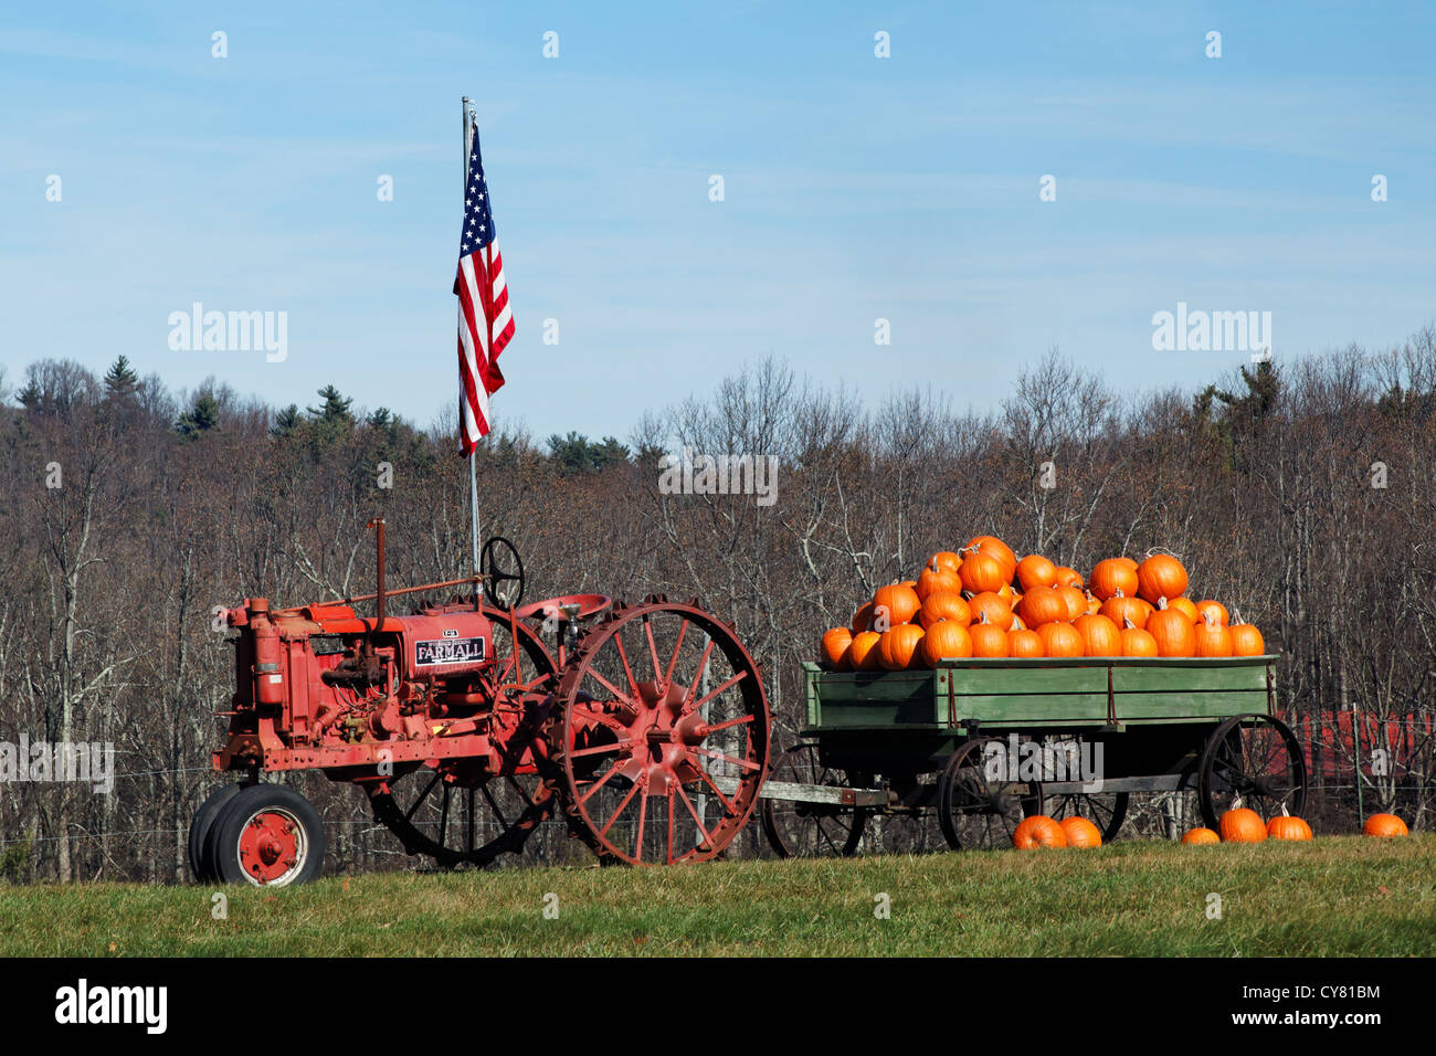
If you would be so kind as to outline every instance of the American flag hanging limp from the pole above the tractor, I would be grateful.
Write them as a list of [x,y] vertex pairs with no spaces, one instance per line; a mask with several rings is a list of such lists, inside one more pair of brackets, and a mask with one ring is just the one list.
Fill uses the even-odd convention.
[[464,230],[454,293],[458,295],[458,440],[460,450],[468,455],[480,437],[488,432],[488,397],[504,384],[498,353],[514,336],[504,259],[494,241],[488,184],[484,182],[484,162],[478,157],[477,126],[468,154]]

